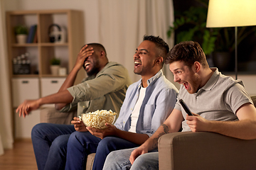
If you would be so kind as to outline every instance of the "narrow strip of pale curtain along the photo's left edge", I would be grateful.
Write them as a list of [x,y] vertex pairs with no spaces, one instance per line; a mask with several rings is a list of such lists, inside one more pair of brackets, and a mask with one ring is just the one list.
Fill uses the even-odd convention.
[[10,149],[14,143],[4,11],[4,2],[0,0],[0,155],[4,154],[3,148]]

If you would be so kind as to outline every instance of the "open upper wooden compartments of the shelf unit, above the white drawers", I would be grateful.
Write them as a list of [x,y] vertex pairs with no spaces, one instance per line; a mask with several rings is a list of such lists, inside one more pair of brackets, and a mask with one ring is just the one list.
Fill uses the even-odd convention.
[[[64,43],[50,42],[48,28],[51,24],[58,24],[66,33]],[[38,42],[16,43],[14,27],[25,25],[30,28],[37,25]],[[10,73],[13,72],[12,60],[25,52],[30,53],[31,74],[16,75],[12,77],[52,77],[50,74],[50,60],[60,58],[61,67],[66,67],[68,72],[73,68],[77,54],[84,43],[84,30],[82,12],[75,10],[47,10],[47,11],[7,11],[6,27],[9,52]],[[37,73],[38,72],[38,73]]]

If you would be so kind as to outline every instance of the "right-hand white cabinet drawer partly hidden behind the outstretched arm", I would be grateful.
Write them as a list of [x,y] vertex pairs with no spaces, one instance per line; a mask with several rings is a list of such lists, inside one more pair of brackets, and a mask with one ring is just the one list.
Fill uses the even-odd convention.
[[[55,94],[64,83],[65,78],[42,78],[41,79],[41,96]],[[54,107],[54,104],[46,104],[44,107]]]

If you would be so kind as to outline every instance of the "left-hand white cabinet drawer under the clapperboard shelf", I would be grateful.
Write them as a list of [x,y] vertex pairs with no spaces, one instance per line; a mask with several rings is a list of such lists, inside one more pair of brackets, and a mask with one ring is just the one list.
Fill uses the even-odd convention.
[[15,78],[12,79],[13,107],[18,107],[26,99],[39,98],[38,78]]

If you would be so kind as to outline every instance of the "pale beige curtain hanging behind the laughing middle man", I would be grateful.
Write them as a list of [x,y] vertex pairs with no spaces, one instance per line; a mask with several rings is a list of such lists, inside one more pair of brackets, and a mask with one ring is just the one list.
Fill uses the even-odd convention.
[[[100,42],[107,49],[110,61],[119,62],[129,71],[132,81],[140,76],[133,72],[133,55],[144,35],[163,38],[171,47],[174,36],[167,38],[167,30],[174,22],[171,0],[97,0],[99,6]],[[173,80],[169,67],[163,69]]]

